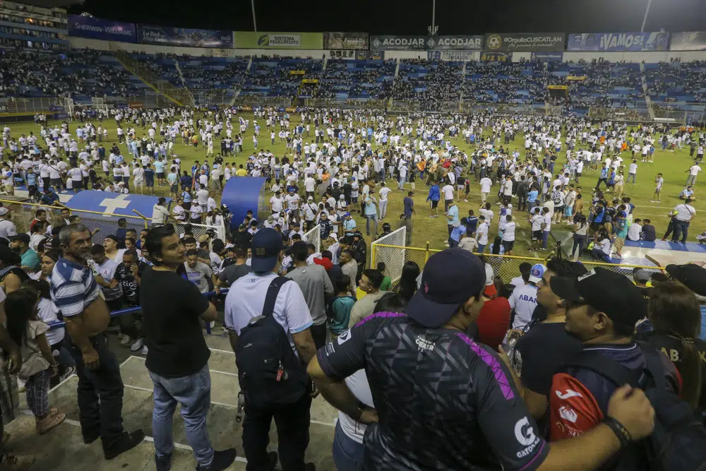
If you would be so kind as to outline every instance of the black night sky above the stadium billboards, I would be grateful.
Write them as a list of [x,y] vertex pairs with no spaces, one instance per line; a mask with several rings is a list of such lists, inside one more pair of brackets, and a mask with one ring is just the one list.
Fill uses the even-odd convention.
[[[333,11],[332,5],[335,5]],[[261,31],[426,34],[432,0],[255,0]],[[437,0],[439,35],[640,31],[647,0]],[[412,8],[413,7],[413,8]],[[85,0],[70,13],[182,28],[253,30],[249,0]],[[705,0],[652,0],[646,31],[706,30]]]

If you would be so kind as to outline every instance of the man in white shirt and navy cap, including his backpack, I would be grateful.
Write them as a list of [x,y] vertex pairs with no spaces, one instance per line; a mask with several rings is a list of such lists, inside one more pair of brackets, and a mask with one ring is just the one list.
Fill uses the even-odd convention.
[[304,465],[313,395],[304,365],[316,354],[311,313],[297,282],[277,275],[285,258],[280,233],[259,230],[252,251],[252,273],[236,280],[225,299],[239,402],[244,400],[245,407],[243,448],[248,469],[274,469],[277,453],[267,451],[274,418],[282,471],[313,470],[313,465]]

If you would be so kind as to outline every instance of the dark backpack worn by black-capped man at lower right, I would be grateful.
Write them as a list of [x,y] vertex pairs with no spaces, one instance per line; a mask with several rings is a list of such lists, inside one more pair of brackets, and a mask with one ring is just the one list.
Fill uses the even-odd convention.
[[[564,368],[590,369],[617,387],[627,383],[645,391],[654,407],[654,431],[633,445],[644,448],[647,456],[647,468],[639,465],[640,471],[706,471],[706,427],[688,403],[667,389],[662,353],[644,342],[638,346],[647,363],[642,371],[628,369],[598,352],[582,352]],[[638,471],[630,457],[609,463],[616,470]]]

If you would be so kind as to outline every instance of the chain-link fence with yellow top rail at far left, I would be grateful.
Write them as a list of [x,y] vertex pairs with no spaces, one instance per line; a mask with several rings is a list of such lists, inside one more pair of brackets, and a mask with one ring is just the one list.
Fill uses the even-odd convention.
[[[64,216],[61,215],[61,210],[66,208],[64,205],[37,205],[33,203],[22,203],[20,201],[2,199],[0,199],[0,203],[10,210],[11,221],[17,227],[18,233],[30,231],[30,225],[32,224],[32,220],[34,220],[37,216],[37,210],[44,210],[47,212],[47,222],[49,222],[52,227],[66,224],[64,221]],[[91,231],[100,229],[97,234],[95,234],[93,242],[100,241],[103,237],[109,234],[115,234],[116,229],[118,229],[119,219],[125,220],[126,229],[135,229],[138,234],[140,234],[140,230],[148,227],[148,220],[143,217],[111,213],[97,213],[95,211],[71,208],[66,209],[69,210],[69,216],[78,216],[79,219],[76,222],[82,222],[83,225],[88,227]]]

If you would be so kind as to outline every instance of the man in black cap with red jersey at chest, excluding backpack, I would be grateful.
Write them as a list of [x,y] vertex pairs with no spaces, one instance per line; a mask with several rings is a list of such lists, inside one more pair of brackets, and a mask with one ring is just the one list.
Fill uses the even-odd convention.
[[[577,278],[552,277],[549,287],[566,302],[566,331],[583,343],[580,359],[594,357],[604,364],[616,362],[637,371],[647,366],[646,354],[659,357],[666,388],[678,394],[674,364],[652,348],[632,340],[635,323],[645,318],[647,302],[628,278],[604,268],[594,268]],[[604,419],[616,386],[605,376],[573,360],[577,366],[554,375],[549,394],[551,441],[584,434]],[[628,448],[634,469],[647,469],[645,448]],[[625,458],[626,455],[623,455]]]

